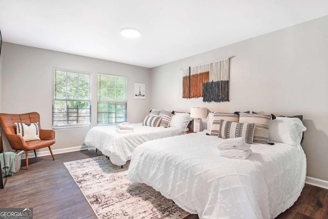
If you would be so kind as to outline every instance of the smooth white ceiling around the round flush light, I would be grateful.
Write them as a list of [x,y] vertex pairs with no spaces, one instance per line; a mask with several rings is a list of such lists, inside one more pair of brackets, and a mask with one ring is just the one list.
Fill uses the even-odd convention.
[[325,15],[327,0],[0,0],[5,42],[148,68]]

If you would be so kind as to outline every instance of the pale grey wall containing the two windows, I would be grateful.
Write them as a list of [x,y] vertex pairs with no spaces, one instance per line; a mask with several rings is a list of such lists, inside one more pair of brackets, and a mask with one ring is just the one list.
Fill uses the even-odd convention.
[[[37,111],[43,129],[51,129],[53,67],[92,73],[92,126],[97,124],[97,73],[128,77],[127,120],[142,122],[150,109],[150,69],[96,58],[3,43],[3,113]],[[146,99],[134,99],[134,83],[146,84]],[[52,149],[81,146],[90,128],[56,130]],[[10,146],[4,141],[8,151]],[[47,150],[47,149],[42,149]]]

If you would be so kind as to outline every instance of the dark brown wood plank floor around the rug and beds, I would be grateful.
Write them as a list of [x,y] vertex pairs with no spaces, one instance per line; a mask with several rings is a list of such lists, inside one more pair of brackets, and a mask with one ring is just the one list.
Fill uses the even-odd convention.
[[[23,160],[22,169],[5,178],[0,208],[33,208],[34,218],[97,218],[63,163],[99,155],[84,150],[55,154],[55,161],[51,156],[30,158],[29,170]],[[297,202],[277,218],[328,218],[328,190],[305,184]]]

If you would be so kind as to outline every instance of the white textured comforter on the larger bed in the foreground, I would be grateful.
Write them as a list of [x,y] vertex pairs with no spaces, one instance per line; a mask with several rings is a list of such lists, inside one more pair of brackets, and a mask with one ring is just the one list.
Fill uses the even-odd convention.
[[274,218],[294,204],[305,182],[302,149],[253,144],[249,158],[238,160],[218,155],[220,141],[200,132],[144,143],[128,178],[200,218]]

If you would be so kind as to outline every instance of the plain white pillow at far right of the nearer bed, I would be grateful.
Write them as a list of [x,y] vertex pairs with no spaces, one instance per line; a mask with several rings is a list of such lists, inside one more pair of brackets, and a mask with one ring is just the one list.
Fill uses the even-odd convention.
[[279,117],[271,121],[269,141],[299,146],[306,127],[299,118]]

